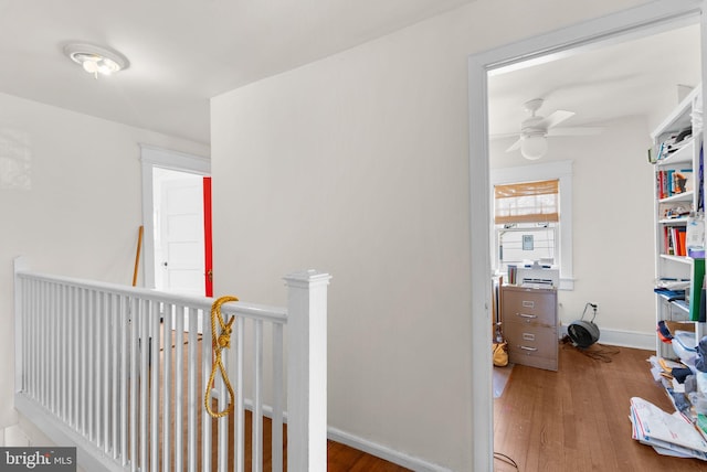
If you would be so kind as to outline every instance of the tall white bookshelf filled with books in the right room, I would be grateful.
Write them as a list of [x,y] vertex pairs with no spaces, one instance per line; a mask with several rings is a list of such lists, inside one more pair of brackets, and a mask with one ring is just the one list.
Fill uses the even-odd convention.
[[[701,199],[701,85],[690,92],[651,133],[654,163],[655,278],[683,280],[677,294],[656,292],[656,324],[663,320],[697,321],[704,259],[688,257],[689,214],[704,212]],[[683,294],[684,291],[684,294]],[[697,302],[695,302],[695,300]],[[696,330],[699,331],[699,330]],[[656,336],[658,356],[673,357],[669,344]]]

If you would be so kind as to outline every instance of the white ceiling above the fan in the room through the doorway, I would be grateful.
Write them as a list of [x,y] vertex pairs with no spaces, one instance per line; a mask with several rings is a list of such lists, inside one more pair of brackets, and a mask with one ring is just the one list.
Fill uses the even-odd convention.
[[[602,45],[557,61],[489,77],[489,133],[517,133],[523,104],[544,98],[538,115],[576,115],[561,127],[602,125],[629,116],[655,120],[656,104],[678,103],[678,86],[700,81],[699,25]],[[515,138],[508,138],[513,142]]]

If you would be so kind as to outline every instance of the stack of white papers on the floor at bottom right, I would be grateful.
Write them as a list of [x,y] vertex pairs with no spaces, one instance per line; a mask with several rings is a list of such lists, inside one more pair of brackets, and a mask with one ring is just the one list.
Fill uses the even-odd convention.
[[676,411],[667,414],[643,398],[631,398],[633,439],[661,454],[707,461],[707,441],[695,425]]

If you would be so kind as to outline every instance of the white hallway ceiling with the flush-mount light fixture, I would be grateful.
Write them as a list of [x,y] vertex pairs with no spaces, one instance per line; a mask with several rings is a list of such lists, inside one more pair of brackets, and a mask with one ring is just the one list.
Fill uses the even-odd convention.
[[[0,0],[0,92],[208,143],[209,98],[472,0]],[[130,66],[97,81],[65,43]]]

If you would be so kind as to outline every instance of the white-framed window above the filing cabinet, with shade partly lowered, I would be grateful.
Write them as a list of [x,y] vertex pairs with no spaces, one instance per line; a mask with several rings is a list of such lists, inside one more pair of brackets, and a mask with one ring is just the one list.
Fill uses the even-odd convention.
[[571,290],[572,164],[549,162],[492,171],[492,264],[539,261],[560,270],[560,289]]

